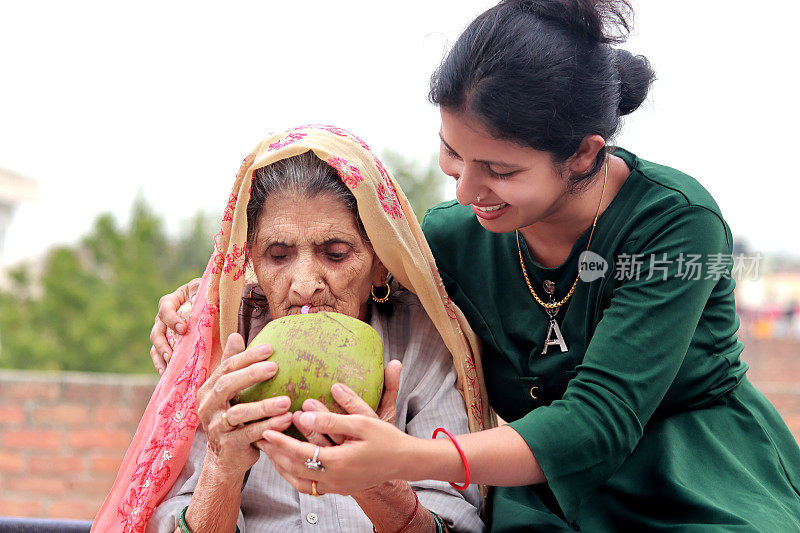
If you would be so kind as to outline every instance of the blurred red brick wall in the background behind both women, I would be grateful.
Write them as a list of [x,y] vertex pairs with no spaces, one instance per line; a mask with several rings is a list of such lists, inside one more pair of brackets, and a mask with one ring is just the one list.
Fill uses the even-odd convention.
[[[800,441],[800,342],[745,343],[750,379]],[[0,371],[0,515],[93,518],[155,384],[148,376]]]

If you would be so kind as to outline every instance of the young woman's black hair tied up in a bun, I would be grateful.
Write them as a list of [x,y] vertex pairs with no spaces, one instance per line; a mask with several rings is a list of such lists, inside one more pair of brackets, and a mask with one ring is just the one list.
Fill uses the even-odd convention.
[[[647,97],[655,73],[624,42],[627,0],[504,0],[461,34],[431,78],[431,102],[492,135],[564,163],[589,135],[606,141]],[[606,150],[578,186],[602,167]]]

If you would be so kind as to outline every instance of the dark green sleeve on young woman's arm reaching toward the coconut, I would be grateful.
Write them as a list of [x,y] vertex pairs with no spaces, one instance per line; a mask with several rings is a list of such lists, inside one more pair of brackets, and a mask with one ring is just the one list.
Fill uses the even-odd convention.
[[[700,254],[705,265],[709,256],[731,254],[727,226],[702,207],[675,208],[636,234],[624,247],[646,258],[642,275],[613,291],[562,399],[509,424],[530,446],[568,519],[642,438],[719,281],[705,279],[705,268],[700,279],[682,279],[681,258]],[[651,256],[666,272],[647,279]]]

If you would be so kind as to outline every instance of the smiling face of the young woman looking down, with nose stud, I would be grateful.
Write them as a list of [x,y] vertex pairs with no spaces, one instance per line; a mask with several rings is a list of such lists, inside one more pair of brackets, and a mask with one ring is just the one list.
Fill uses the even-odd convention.
[[498,140],[474,118],[440,110],[439,166],[484,228],[504,233],[557,216],[567,180],[547,152]]

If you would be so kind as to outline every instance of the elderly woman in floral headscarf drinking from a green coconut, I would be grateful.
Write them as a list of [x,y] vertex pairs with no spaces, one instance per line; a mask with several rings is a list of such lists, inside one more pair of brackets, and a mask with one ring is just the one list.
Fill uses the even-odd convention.
[[[316,126],[263,141],[242,165],[215,245],[188,332],[95,530],[481,531],[475,486],[460,492],[443,482],[391,481],[351,496],[321,495],[313,484],[298,492],[252,443],[292,422],[317,446],[336,437],[307,431],[286,396],[231,406],[239,391],[278,371],[269,345],[246,344],[270,319],[308,307],[368,322],[383,340],[378,413],[347,387],[334,387],[347,412],[380,415],[426,438],[438,426],[464,433],[488,420],[474,336],[448,309],[413,212],[363,141]],[[249,267],[257,284],[244,283]],[[389,272],[410,290],[388,283]],[[325,407],[306,400],[303,409]]]

